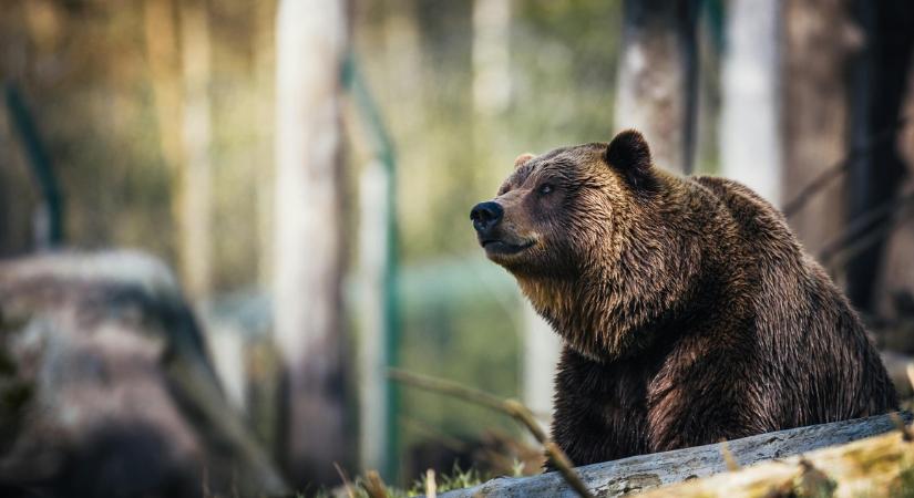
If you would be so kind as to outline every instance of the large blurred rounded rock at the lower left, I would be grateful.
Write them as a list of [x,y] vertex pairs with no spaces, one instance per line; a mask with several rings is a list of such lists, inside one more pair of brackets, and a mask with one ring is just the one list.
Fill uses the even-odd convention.
[[0,262],[0,495],[286,490],[164,264],[136,252]]

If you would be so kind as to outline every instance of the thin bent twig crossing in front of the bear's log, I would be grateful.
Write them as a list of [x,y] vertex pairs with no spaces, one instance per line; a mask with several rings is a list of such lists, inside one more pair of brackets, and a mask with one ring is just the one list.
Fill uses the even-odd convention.
[[463,401],[474,403],[476,405],[485,406],[496,412],[502,412],[510,415],[515,421],[524,425],[530,430],[533,437],[543,445],[546,455],[552,460],[555,468],[562,474],[562,477],[577,492],[582,498],[593,498],[593,494],[581,480],[581,477],[574,470],[574,464],[565,452],[558,447],[554,442],[550,440],[546,433],[543,432],[540,424],[533,417],[530,409],[516,400],[502,400],[499,396],[466,387],[453,381],[443,378],[434,378],[427,375],[419,375],[402,370],[390,370],[388,376],[397,382],[419,387],[425,391],[432,391],[439,394],[444,394],[453,397],[459,397]]

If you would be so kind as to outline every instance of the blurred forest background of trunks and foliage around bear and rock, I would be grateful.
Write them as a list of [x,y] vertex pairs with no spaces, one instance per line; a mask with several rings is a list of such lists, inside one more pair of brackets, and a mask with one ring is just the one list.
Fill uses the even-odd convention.
[[333,461],[534,473],[511,421],[384,375],[547,419],[557,339],[470,207],[520,153],[637,127],[659,166],[781,207],[914,354],[912,27],[906,0],[6,0],[0,268],[164,261],[232,430],[295,487]]

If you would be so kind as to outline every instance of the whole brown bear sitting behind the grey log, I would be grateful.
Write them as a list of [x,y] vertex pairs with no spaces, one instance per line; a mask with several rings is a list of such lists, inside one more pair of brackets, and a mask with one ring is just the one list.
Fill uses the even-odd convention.
[[552,435],[576,465],[896,409],[784,217],[655,167],[635,131],[518,157],[471,219],[563,339]]

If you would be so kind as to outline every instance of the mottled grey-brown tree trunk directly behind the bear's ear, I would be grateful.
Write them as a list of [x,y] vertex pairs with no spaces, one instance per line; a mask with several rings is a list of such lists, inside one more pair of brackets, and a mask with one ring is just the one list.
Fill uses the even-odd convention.
[[698,3],[625,1],[615,126],[639,129],[655,162],[680,173],[692,163]]

